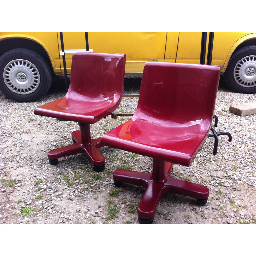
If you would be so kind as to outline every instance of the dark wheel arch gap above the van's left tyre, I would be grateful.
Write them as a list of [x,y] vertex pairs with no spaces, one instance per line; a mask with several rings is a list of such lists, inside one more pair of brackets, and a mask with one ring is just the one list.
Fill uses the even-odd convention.
[[36,41],[27,38],[7,38],[3,40],[0,39],[0,56],[2,56],[5,52],[16,48],[25,48],[37,52],[46,60],[52,74],[54,73],[52,61],[49,57],[47,50],[42,44],[39,44]]

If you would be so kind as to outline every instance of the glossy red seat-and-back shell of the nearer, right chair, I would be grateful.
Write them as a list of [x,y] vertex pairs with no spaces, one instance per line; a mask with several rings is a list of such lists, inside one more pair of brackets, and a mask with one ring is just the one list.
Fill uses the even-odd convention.
[[103,144],[189,166],[209,132],[219,66],[147,62],[132,118]]

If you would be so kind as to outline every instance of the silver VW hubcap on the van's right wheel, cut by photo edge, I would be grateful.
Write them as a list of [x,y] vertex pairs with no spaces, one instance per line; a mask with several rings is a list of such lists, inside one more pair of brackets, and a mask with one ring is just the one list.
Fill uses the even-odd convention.
[[256,86],[256,56],[250,55],[239,60],[234,69],[236,82],[243,87]]

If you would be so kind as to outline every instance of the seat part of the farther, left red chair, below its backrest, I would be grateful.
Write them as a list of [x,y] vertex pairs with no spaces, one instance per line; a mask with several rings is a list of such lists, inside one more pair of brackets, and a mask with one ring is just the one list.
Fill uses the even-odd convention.
[[98,97],[96,100],[85,101],[64,96],[35,109],[35,114],[68,121],[94,124],[101,118],[111,114],[115,107],[109,108],[112,99]]

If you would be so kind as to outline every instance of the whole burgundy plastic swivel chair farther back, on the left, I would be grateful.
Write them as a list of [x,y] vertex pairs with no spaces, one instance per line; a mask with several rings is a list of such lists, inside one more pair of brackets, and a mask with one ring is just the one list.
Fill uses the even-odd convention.
[[111,114],[124,91],[125,54],[75,52],[72,58],[70,86],[67,94],[37,107],[34,114],[75,121],[80,131],[71,133],[74,144],[48,152],[50,164],[58,158],[84,153],[95,171],[103,171],[105,158],[98,148],[100,138],[91,139],[90,124]]

